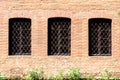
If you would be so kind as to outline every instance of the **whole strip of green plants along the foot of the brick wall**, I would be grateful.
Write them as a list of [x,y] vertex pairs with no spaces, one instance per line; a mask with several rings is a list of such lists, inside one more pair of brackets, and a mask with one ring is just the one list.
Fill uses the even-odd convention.
[[28,75],[23,78],[4,77],[0,73],[0,80],[120,80],[113,76],[113,73],[105,69],[104,73],[100,73],[99,78],[95,78],[93,74],[88,77],[84,77],[78,68],[71,68],[65,74],[63,70],[60,70],[56,76],[50,76],[44,78],[44,71],[42,69],[31,70]]

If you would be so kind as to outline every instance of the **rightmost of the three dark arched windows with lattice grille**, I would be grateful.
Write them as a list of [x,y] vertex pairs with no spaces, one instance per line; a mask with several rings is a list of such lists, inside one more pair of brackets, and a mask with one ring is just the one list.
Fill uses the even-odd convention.
[[111,19],[89,19],[89,55],[111,55]]

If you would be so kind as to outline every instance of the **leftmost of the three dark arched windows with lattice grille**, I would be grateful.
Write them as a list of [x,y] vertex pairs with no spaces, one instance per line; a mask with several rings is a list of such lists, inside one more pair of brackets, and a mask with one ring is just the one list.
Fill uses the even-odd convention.
[[9,55],[31,54],[31,19],[9,19]]

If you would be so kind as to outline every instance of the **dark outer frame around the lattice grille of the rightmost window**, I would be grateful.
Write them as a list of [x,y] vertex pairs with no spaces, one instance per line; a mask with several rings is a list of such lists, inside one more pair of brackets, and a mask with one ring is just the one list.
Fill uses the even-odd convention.
[[[92,53],[91,52],[91,36],[90,36],[90,32],[92,32],[92,31],[90,31],[90,25],[91,25],[91,23],[94,23],[94,22],[96,22],[96,23],[103,23],[103,22],[105,22],[105,23],[109,23],[109,26],[110,26],[110,28],[109,28],[109,30],[110,30],[110,42],[109,42],[109,53],[107,53],[107,54],[94,54],[94,53]],[[90,18],[89,20],[88,20],[88,36],[89,36],[89,38],[88,38],[88,41],[89,41],[89,56],[111,56],[112,55],[112,20],[111,19],[108,19],[108,18]],[[101,43],[101,41],[100,41],[100,43]],[[101,44],[100,44],[101,45]],[[102,50],[100,51],[100,53],[102,52]]]

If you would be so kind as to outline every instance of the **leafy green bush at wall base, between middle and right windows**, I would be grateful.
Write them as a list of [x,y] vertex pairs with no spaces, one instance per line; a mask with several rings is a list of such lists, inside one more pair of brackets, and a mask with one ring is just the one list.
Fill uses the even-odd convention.
[[78,68],[71,68],[68,71],[68,75],[70,80],[79,80],[82,74],[80,73],[80,70]]

